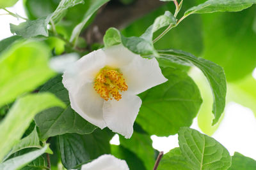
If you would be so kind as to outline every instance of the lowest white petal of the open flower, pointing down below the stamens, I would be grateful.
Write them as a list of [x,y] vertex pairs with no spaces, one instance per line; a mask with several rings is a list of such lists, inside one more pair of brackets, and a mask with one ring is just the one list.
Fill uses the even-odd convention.
[[113,132],[131,138],[133,124],[140,111],[141,99],[134,94],[123,93],[120,101],[104,101],[103,118]]

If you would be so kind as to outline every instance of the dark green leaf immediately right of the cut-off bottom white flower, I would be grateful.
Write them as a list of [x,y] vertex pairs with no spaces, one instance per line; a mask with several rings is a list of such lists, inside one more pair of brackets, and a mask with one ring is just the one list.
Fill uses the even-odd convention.
[[123,146],[111,145],[111,155],[114,155],[118,159],[125,160],[132,170],[146,170],[141,159]]

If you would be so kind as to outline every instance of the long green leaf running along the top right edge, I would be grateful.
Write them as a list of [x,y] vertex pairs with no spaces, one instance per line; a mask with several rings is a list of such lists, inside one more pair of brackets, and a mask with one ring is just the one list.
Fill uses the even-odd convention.
[[185,15],[192,13],[213,13],[218,11],[241,11],[255,3],[255,0],[208,0],[198,6],[193,6],[186,11]]

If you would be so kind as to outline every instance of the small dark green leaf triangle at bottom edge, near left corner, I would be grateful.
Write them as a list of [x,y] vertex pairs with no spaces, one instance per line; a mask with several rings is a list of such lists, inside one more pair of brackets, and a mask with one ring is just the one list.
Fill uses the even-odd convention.
[[22,167],[20,170],[42,170],[48,169],[44,157],[40,156],[37,159],[30,162],[27,166]]

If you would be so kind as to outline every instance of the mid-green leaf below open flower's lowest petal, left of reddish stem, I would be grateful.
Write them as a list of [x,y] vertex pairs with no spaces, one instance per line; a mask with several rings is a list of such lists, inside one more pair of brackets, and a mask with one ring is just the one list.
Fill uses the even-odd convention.
[[144,162],[144,166],[147,169],[154,167],[155,153],[152,147],[152,140],[148,134],[133,132],[131,139],[125,139],[120,136],[120,145],[137,155]]

